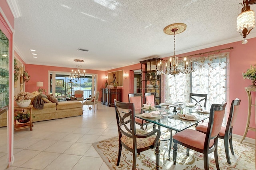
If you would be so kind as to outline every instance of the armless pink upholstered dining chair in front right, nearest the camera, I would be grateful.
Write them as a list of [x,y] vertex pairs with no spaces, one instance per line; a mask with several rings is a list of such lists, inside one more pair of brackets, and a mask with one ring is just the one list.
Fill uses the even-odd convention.
[[227,103],[212,104],[210,109],[209,123],[206,133],[199,132],[194,129],[185,129],[173,135],[173,164],[176,165],[177,158],[177,144],[187,148],[187,155],[189,150],[195,150],[204,154],[204,169],[209,169],[208,154],[214,152],[215,164],[219,170],[218,162],[218,136],[220,133],[222,121],[225,115],[225,108]]

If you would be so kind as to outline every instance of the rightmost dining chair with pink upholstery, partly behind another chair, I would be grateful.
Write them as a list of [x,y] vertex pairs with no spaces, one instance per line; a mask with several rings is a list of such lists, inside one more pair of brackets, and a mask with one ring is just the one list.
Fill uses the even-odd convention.
[[[228,151],[228,142],[230,145],[231,153],[234,155],[233,144],[232,144],[232,130],[233,130],[233,126],[236,121],[240,102],[241,102],[241,100],[238,98],[236,98],[235,100],[232,101],[231,106],[230,106],[230,113],[228,116],[228,122],[227,122],[226,126],[221,127],[220,134],[219,134],[219,138],[224,139],[224,147],[225,147],[226,159],[227,159],[228,164],[231,164],[229,151]],[[204,123],[201,123],[200,125],[198,125],[196,127],[196,130],[206,133],[207,127],[208,127],[208,123],[204,122]]]

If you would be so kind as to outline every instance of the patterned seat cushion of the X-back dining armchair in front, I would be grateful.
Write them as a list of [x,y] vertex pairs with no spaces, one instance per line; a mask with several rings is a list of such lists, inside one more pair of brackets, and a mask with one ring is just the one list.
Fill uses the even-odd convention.
[[[136,134],[147,134],[148,132],[142,129],[136,129]],[[137,138],[137,149],[140,148],[145,148],[148,146],[151,146],[152,144],[154,144],[154,140],[155,140],[156,136],[152,135],[150,137],[147,138]],[[133,148],[133,140],[132,138],[129,138],[128,136],[123,135],[120,140],[129,148]],[[160,142],[160,140],[158,141]]]

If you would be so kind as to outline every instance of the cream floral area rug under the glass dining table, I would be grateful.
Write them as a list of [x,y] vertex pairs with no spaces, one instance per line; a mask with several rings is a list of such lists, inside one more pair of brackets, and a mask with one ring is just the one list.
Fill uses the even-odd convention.
[[[162,131],[162,130],[161,130]],[[163,133],[163,132],[162,132]],[[166,130],[163,137],[168,137],[170,132]],[[169,136],[170,138],[170,136]],[[102,159],[111,170],[131,170],[132,153],[122,147],[122,155],[119,166],[116,166],[118,156],[118,136],[95,142],[92,144]],[[173,145],[173,142],[172,142]],[[172,146],[173,147],[173,146]],[[173,149],[173,148],[172,148]],[[218,160],[220,169],[225,170],[253,170],[255,169],[255,145],[243,141],[240,144],[238,139],[233,138],[234,155],[230,153],[231,164],[226,162],[224,150],[224,140],[218,140]],[[146,150],[137,154],[136,170],[156,169],[155,149]],[[160,144],[160,170],[204,170],[203,154],[190,150],[189,156],[186,155],[186,148],[178,144],[177,163],[173,164],[173,150],[170,152],[168,160],[168,141],[162,141]],[[209,169],[215,170],[214,154],[209,154]]]

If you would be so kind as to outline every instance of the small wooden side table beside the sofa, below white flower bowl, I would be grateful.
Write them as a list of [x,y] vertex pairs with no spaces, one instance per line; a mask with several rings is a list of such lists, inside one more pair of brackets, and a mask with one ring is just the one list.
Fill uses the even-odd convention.
[[30,130],[33,130],[32,129],[32,126],[33,126],[32,108],[33,108],[33,105],[29,105],[28,107],[14,107],[14,116],[16,116],[18,114],[22,114],[22,113],[30,114],[30,121],[28,121],[27,123],[18,123],[17,124],[18,121],[14,120],[14,130],[20,129],[20,128],[30,128]]

